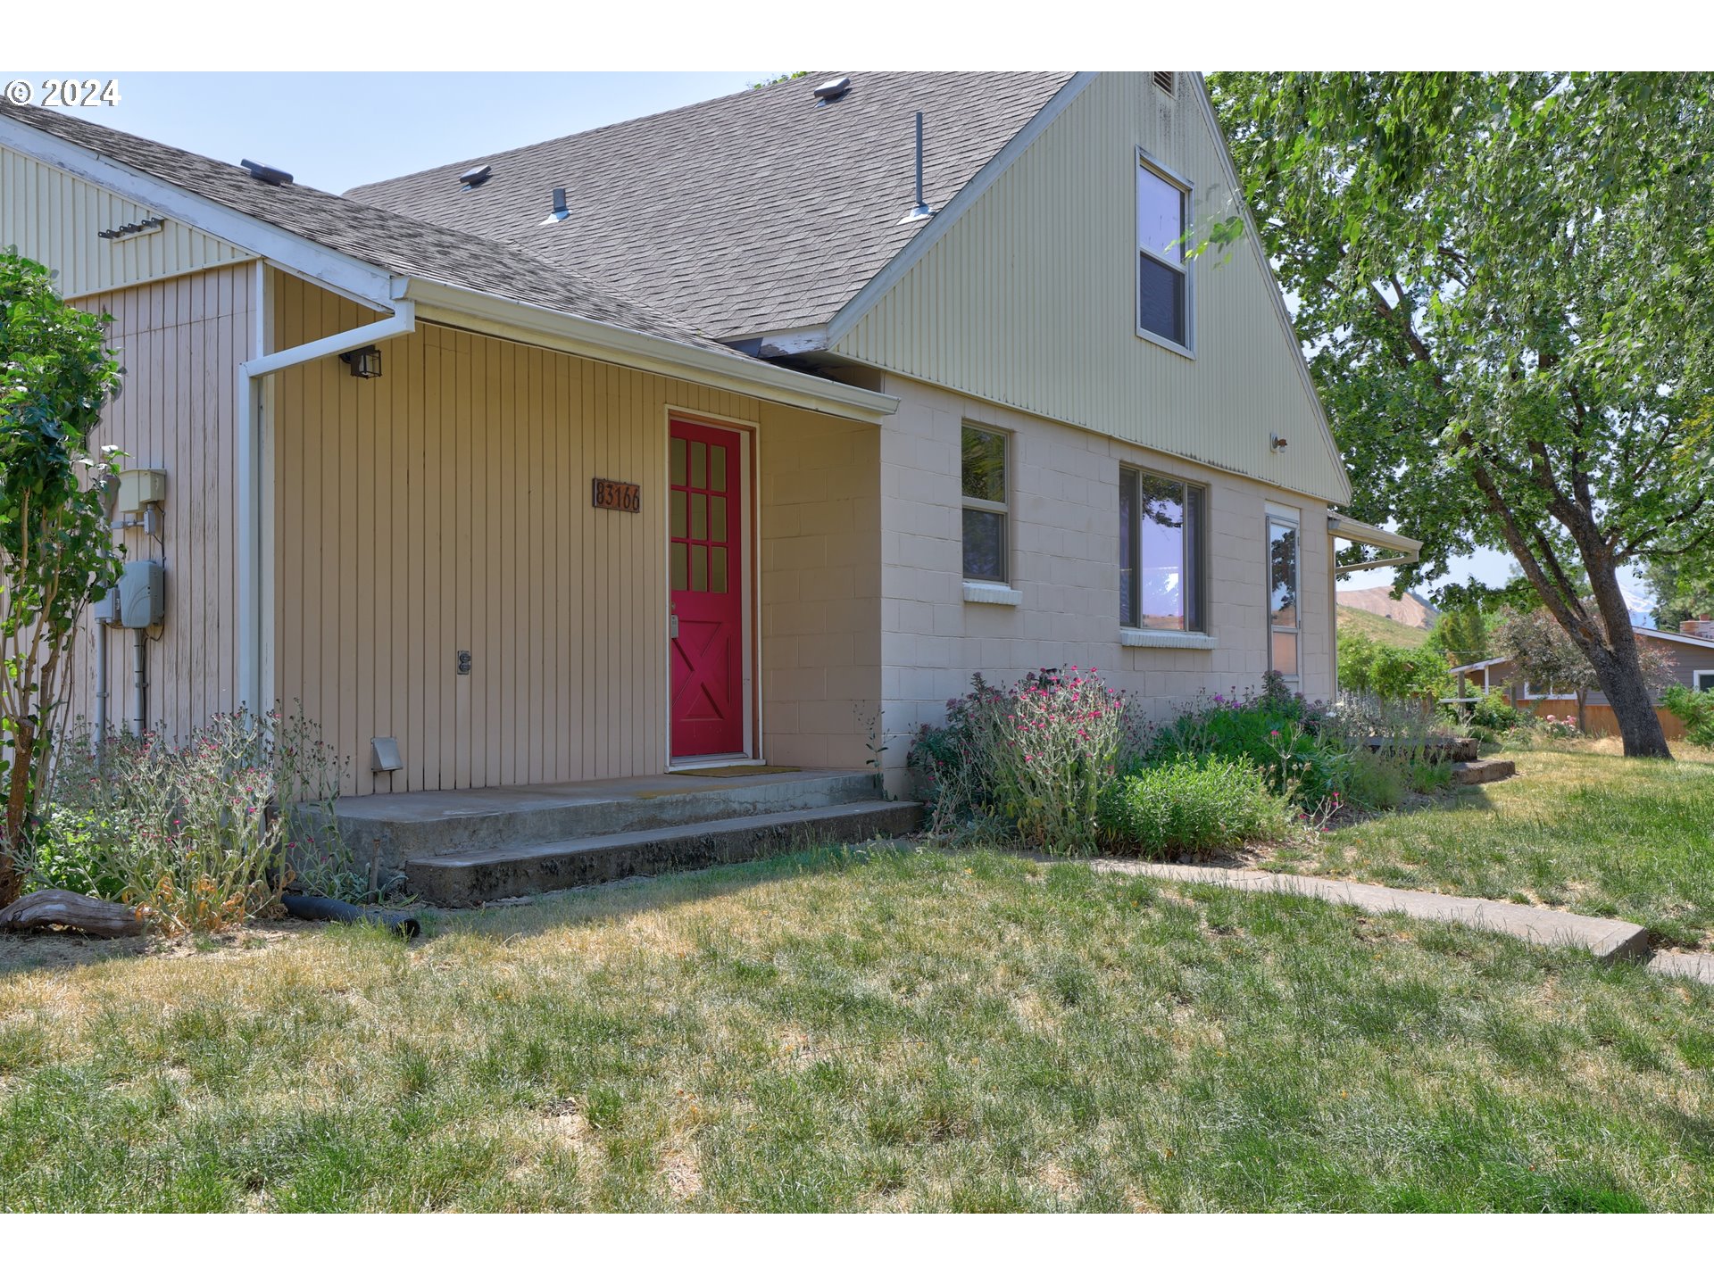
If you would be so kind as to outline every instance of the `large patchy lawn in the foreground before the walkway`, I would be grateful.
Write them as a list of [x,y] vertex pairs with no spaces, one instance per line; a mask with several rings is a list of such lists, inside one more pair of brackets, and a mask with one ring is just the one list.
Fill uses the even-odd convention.
[[991,853],[0,975],[10,1210],[1707,1210],[1714,1001]]

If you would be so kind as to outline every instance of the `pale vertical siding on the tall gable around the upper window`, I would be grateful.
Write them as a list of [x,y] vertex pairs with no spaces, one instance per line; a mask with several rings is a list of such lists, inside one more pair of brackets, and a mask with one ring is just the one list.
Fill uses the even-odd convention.
[[1248,236],[1191,266],[1195,358],[1136,334],[1136,149],[1195,183],[1200,228],[1236,209],[1203,91],[1178,82],[1172,98],[1147,72],[1099,75],[835,351],[1339,502],[1344,473]]

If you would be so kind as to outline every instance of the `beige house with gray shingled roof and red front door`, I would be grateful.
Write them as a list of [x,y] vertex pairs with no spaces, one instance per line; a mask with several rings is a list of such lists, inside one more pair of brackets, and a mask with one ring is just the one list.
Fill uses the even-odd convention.
[[1255,231],[1183,254],[1238,209],[1202,79],[830,79],[346,197],[0,106],[0,243],[111,314],[165,473],[110,716],[302,701],[355,793],[898,788],[974,670],[1333,696],[1335,529],[1416,541],[1333,512]]

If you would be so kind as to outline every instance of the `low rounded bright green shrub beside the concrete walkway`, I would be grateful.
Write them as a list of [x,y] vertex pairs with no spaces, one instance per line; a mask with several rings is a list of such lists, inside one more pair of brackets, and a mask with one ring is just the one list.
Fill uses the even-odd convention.
[[1102,793],[1109,846],[1178,857],[1282,836],[1291,807],[1248,759],[1174,759],[1121,776]]

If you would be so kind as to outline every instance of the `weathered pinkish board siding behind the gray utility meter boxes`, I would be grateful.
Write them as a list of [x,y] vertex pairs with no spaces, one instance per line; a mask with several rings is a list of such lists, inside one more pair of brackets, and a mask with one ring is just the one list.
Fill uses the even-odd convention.
[[[81,300],[113,317],[108,343],[125,367],[123,391],[93,445],[118,445],[122,468],[166,471],[161,538],[122,531],[127,560],[159,559],[166,617],[149,631],[149,723],[178,737],[237,701],[237,581],[231,547],[237,362],[250,336],[249,266],[177,276]],[[74,654],[74,716],[94,718],[94,625]],[[108,718],[130,718],[132,632],[110,644]]]

